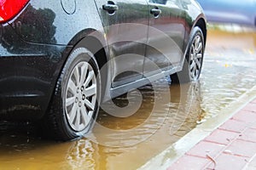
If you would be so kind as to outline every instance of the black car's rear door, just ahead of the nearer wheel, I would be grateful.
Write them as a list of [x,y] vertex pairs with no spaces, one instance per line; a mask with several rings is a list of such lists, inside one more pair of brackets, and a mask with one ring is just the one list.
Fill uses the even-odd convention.
[[112,87],[143,76],[148,35],[147,0],[95,0],[108,39]]

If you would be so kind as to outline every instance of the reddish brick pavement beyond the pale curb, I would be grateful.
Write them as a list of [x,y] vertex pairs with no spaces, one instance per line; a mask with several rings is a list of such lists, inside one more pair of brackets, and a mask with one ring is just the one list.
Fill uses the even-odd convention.
[[256,99],[175,161],[172,169],[256,169]]

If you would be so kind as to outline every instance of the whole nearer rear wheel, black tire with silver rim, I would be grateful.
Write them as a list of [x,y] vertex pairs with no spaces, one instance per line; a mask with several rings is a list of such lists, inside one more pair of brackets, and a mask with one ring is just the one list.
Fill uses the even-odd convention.
[[96,122],[101,99],[101,77],[96,59],[86,48],[69,55],[44,116],[47,136],[67,141],[89,133]]

